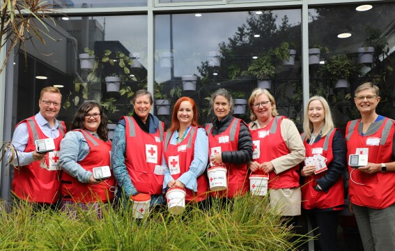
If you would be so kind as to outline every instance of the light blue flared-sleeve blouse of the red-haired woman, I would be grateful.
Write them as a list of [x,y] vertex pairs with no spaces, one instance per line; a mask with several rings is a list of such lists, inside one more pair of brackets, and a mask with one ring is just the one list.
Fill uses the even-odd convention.
[[[188,130],[189,134],[190,128]],[[171,132],[168,132],[171,133]],[[178,138],[178,132],[173,132],[171,136],[169,144],[176,145]],[[203,174],[206,170],[208,164],[208,137],[206,135],[206,130],[203,128],[198,128],[197,135],[195,139],[195,148],[194,148],[194,160],[189,167],[188,172],[181,174],[178,178],[178,181],[183,183],[186,188],[189,190],[193,190],[197,192],[197,178]],[[162,165],[166,167],[164,169],[164,180],[163,180],[163,189],[167,188],[167,184],[169,181],[173,181],[174,178],[170,174],[169,166],[167,165],[164,157],[162,158]]]

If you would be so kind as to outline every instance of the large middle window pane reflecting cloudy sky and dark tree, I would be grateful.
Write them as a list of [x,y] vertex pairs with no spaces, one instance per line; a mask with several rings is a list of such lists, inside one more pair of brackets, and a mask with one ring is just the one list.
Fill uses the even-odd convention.
[[[299,9],[156,15],[155,99],[173,104],[190,96],[199,106],[200,123],[206,123],[212,121],[208,99],[219,87],[233,98],[247,99],[257,80],[271,80],[266,88],[280,114],[300,122],[300,19]],[[259,59],[265,70],[247,72]],[[185,90],[183,79],[193,75],[197,79],[189,82],[196,82],[196,90]],[[236,116],[249,121],[248,108]]]

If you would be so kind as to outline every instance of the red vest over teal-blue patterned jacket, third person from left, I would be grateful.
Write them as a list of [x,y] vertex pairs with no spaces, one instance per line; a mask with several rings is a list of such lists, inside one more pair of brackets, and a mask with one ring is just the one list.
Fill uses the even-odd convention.
[[154,174],[155,166],[162,165],[164,125],[160,121],[157,132],[147,133],[131,116],[125,119],[125,165],[138,192],[162,195],[163,175]]

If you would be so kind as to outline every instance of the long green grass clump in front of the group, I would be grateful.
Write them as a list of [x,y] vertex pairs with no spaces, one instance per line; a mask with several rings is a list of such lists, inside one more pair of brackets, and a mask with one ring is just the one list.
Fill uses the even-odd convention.
[[[268,197],[246,195],[223,204],[214,199],[209,212],[187,204],[181,215],[166,209],[141,220],[125,208],[101,205],[95,212],[34,211],[31,204],[0,210],[1,250],[297,250],[295,236],[281,216],[268,206]],[[302,236],[301,236],[302,237]]]

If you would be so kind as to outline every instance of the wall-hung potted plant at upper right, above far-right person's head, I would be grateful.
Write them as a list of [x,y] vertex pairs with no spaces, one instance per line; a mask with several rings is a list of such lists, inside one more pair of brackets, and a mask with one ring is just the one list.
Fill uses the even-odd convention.
[[383,52],[388,45],[387,39],[381,36],[380,29],[367,28],[366,39],[362,47],[357,49],[359,63],[373,63],[374,52]]

